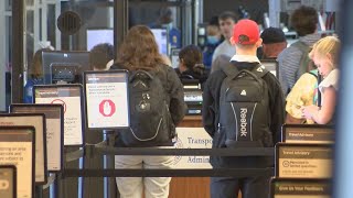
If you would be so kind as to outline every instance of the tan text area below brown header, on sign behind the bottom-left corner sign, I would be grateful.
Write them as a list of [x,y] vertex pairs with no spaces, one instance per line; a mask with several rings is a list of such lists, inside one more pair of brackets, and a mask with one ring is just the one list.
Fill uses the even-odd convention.
[[0,142],[0,164],[17,166],[18,198],[32,197],[32,142]]

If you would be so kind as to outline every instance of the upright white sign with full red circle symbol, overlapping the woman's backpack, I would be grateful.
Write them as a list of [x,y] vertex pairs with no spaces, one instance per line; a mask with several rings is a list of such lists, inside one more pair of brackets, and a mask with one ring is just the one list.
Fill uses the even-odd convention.
[[87,125],[90,129],[129,127],[126,72],[85,73]]

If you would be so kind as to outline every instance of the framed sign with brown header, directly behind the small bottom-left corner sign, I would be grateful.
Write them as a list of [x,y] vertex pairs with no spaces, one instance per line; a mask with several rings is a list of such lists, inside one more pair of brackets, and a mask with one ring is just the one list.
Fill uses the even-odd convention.
[[15,165],[17,197],[33,195],[33,131],[0,129],[0,165]]

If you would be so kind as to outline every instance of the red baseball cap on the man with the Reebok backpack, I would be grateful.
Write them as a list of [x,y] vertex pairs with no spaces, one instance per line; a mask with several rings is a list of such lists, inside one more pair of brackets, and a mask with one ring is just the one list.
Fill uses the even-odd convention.
[[250,45],[255,44],[260,38],[260,31],[255,21],[244,19],[239,20],[233,28],[233,36],[231,43]]

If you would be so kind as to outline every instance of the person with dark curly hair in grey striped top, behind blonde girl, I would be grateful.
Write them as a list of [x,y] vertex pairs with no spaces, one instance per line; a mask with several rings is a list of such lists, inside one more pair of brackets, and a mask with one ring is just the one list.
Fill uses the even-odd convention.
[[[279,81],[285,96],[288,95],[302,75],[299,74],[301,59],[304,58],[303,56],[308,56],[308,54],[304,54],[300,50],[299,44],[312,47],[320,40],[320,34],[317,33],[318,21],[318,12],[311,7],[302,6],[295,10],[291,15],[291,24],[299,36],[299,41],[284,50],[277,58],[279,64]],[[307,68],[307,72],[311,69]]]

